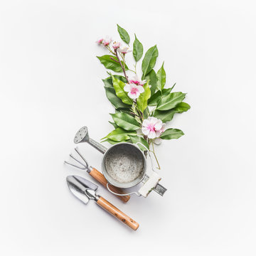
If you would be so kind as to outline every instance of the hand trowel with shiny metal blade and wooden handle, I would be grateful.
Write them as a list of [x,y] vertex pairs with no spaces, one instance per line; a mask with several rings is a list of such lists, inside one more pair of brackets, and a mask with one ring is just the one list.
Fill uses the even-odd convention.
[[133,230],[137,230],[137,228],[139,228],[139,223],[137,223],[126,214],[122,213],[121,210],[117,209],[105,198],[102,198],[102,196],[98,195],[96,193],[98,186],[96,186],[91,181],[88,181],[87,179],[80,176],[68,176],[66,180],[70,191],[75,197],[82,201],[82,203],[87,204],[88,201],[92,199],[97,203],[98,206],[107,210],[107,212],[112,214],[115,218],[128,225],[129,228],[132,228]]

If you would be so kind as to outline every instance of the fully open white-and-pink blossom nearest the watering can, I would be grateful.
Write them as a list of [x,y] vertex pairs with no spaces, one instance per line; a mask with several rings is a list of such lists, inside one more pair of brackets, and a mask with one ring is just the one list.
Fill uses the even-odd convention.
[[149,139],[160,137],[164,130],[165,124],[163,124],[163,122],[156,117],[148,117],[148,119],[144,119],[142,122],[142,133]]

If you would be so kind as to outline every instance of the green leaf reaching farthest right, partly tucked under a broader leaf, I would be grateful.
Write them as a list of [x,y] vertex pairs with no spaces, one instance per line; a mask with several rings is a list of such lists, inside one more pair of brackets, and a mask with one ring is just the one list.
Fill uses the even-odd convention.
[[173,119],[174,114],[186,112],[189,109],[190,109],[190,105],[188,105],[188,103],[181,102],[181,103],[178,103],[178,105],[176,105],[176,107],[174,107],[171,110],[164,110],[164,111],[155,110],[154,117],[161,119],[162,122],[169,122],[169,121],[171,121],[171,119]]

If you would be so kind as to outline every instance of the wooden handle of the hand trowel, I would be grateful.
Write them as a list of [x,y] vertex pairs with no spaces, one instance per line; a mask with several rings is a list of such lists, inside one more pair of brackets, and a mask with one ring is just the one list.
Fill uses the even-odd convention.
[[139,228],[139,223],[137,223],[135,220],[132,220],[132,218],[129,218],[129,216],[127,216],[126,214],[122,213],[121,210],[117,209],[105,198],[102,198],[102,196],[100,196],[100,199],[97,201],[97,205],[107,210],[109,213],[114,215],[114,217],[121,220],[124,224],[126,224],[133,230],[137,230],[137,228]]

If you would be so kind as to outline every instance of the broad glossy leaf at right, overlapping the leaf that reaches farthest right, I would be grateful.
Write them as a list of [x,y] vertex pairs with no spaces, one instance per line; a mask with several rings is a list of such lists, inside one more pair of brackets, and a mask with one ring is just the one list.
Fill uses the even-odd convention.
[[186,94],[183,92],[171,92],[169,95],[161,97],[159,100],[156,110],[171,110],[176,107],[178,103],[182,102]]

